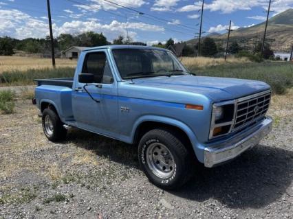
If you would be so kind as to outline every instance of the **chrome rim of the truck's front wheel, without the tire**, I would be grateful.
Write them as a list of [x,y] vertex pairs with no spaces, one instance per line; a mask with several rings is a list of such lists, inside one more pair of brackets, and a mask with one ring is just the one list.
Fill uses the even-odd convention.
[[151,143],[146,150],[146,163],[155,176],[169,178],[175,171],[175,161],[170,150],[162,143]]

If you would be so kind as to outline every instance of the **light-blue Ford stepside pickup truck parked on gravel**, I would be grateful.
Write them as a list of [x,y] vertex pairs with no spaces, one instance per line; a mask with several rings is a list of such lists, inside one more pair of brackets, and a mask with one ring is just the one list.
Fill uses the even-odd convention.
[[74,78],[36,82],[50,141],[72,126],[137,145],[142,170],[164,189],[186,183],[195,165],[235,159],[272,129],[268,84],[195,76],[166,49],[94,47]]

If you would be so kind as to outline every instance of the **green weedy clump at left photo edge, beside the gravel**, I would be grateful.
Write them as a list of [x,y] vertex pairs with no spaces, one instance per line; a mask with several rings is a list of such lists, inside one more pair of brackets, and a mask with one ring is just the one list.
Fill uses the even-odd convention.
[[13,91],[0,91],[0,113],[13,113],[15,106],[14,98],[15,93]]

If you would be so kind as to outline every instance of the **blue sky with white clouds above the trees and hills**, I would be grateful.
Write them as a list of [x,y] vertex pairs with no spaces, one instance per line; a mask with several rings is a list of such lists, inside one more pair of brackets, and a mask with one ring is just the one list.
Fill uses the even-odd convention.
[[[226,32],[265,21],[269,0],[206,0],[203,32]],[[102,32],[108,41],[119,35],[152,45],[175,42],[199,33],[202,1],[191,0],[50,0],[54,37]],[[293,8],[293,0],[274,0],[270,16]],[[0,0],[0,36],[44,38],[49,34],[46,0]]]

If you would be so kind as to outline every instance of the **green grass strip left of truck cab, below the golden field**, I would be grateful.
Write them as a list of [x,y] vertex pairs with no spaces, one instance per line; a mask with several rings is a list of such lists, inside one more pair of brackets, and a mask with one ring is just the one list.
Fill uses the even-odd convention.
[[74,68],[30,69],[28,71],[12,70],[0,74],[0,85],[34,84],[34,79],[43,78],[73,78]]

